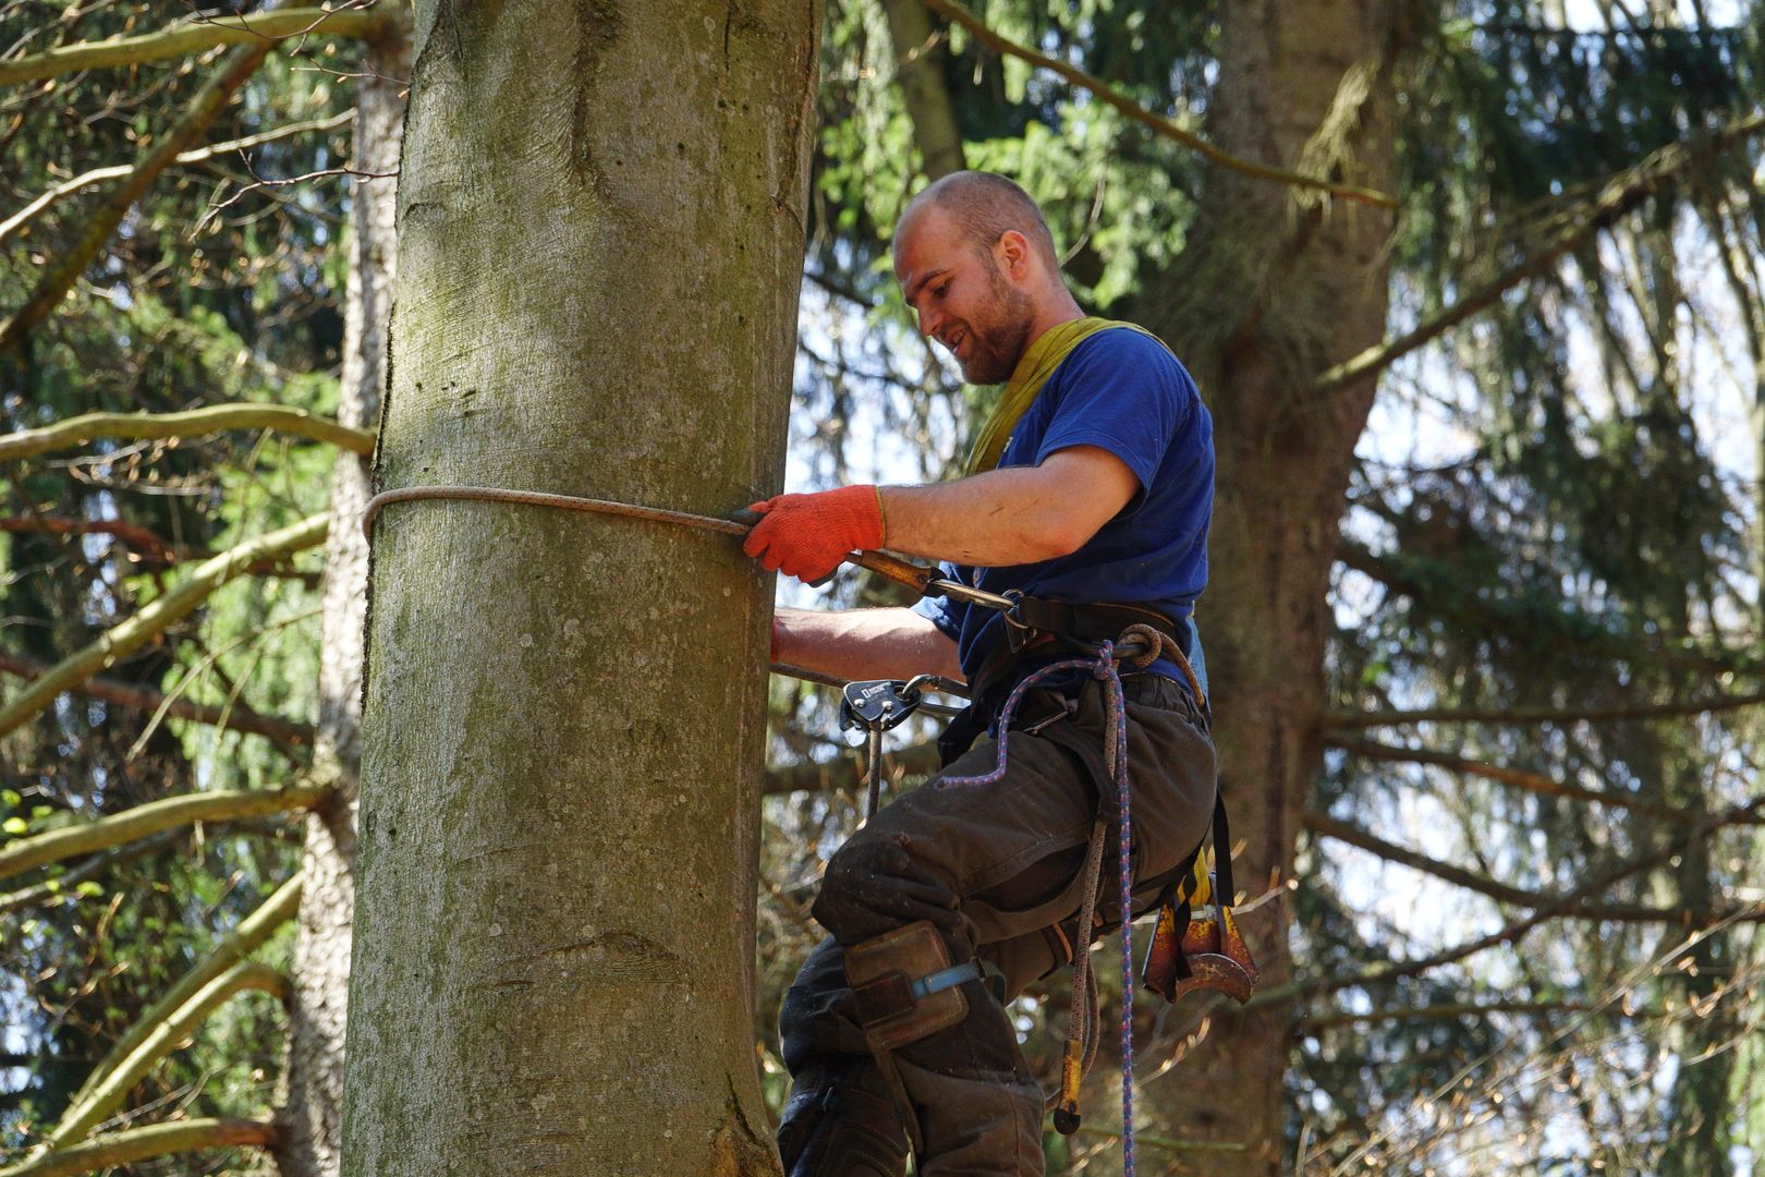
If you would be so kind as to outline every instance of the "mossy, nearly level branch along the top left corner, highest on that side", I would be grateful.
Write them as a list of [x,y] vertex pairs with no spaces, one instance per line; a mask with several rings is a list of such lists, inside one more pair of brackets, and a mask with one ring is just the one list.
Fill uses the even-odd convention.
[[249,16],[203,16],[185,25],[175,25],[154,34],[71,44],[46,53],[32,53],[30,56],[16,56],[9,62],[0,62],[0,86],[18,85],[21,81],[41,81],[44,78],[72,74],[81,69],[109,69],[116,65],[168,62],[171,58],[203,53],[205,49],[214,49],[222,44],[244,44],[268,49],[277,41],[312,34],[372,41],[387,26],[387,12],[376,12],[374,9],[362,7],[346,7],[335,12],[305,7],[282,9],[277,12],[252,12]]

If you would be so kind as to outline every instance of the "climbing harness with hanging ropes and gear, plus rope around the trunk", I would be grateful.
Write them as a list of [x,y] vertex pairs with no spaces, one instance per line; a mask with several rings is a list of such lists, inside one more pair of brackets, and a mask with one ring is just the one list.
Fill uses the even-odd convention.
[[[572,494],[547,494],[540,491],[505,491],[498,487],[401,487],[381,491],[367,501],[362,514],[362,529],[372,536],[374,519],[392,503],[409,503],[424,499],[443,501],[498,501],[522,503],[533,506],[556,506],[563,510],[595,512],[605,515],[623,515],[632,519],[650,519],[671,522],[702,531],[724,535],[747,535],[759,522],[755,512],[736,512],[729,519],[711,515],[694,515],[688,512],[662,510],[653,506],[634,506],[609,499],[591,499]],[[1133,1142],[1133,813],[1131,785],[1128,778],[1128,704],[1123,690],[1119,663],[1126,662],[1144,671],[1160,656],[1168,658],[1183,671],[1197,706],[1205,711],[1205,695],[1188,660],[1186,642],[1172,623],[1153,611],[1137,605],[1071,605],[1066,602],[1047,602],[1025,596],[1017,589],[1006,593],[988,593],[960,581],[935,575],[935,568],[886,556],[882,552],[852,552],[847,563],[868,568],[879,575],[902,584],[921,596],[948,596],[973,605],[997,609],[1006,623],[1006,642],[995,649],[995,656],[980,667],[971,683],[971,697],[983,701],[990,690],[1011,676],[1029,649],[1041,648],[1052,641],[1064,641],[1078,646],[1084,653],[1061,658],[1038,667],[1018,679],[999,708],[995,729],[999,732],[999,755],[990,773],[978,776],[943,776],[935,787],[962,789],[973,785],[997,783],[1006,775],[1010,741],[1006,732],[1017,715],[1024,695],[1040,683],[1061,671],[1087,671],[1103,683],[1105,690],[1105,771],[1112,780],[1117,803],[1117,866],[1121,886],[1121,1124],[1123,1124],[1123,1173],[1135,1173]],[[1098,632],[1114,632],[1115,637],[1093,637]],[[1186,633],[1184,633],[1186,635]],[[796,667],[777,667],[794,672],[800,678],[828,681],[824,676],[801,672]],[[902,723],[916,709],[950,713],[925,701],[925,690],[946,690],[962,693],[962,688],[935,674],[920,674],[911,679],[870,679],[845,683],[840,702],[840,727],[845,731],[863,729],[868,743],[870,764],[867,769],[865,819],[875,813],[881,792],[882,771],[882,732]],[[978,734],[976,720],[985,720],[980,706],[964,711],[951,731],[964,727],[964,734],[973,739]],[[1103,873],[1103,851],[1108,840],[1108,819],[1100,806],[1085,843],[1084,884],[1080,893],[1077,935],[1071,942],[1073,993],[1066,1018],[1066,1046],[1061,1057],[1061,1083],[1047,1096],[1047,1106],[1054,1112],[1054,1126],[1063,1135],[1078,1129],[1078,1085],[1096,1059],[1100,1013],[1096,976],[1091,969],[1091,939],[1096,933],[1098,891]],[[1205,847],[1197,847],[1191,861],[1179,872],[1175,882],[1165,888],[1158,898],[1158,921],[1153,930],[1153,942],[1147,948],[1142,979],[1149,990],[1165,1001],[1177,1001],[1197,988],[1214,988],[1244,1002],[1257,983],[1257,965],[1250,956],[1237,925],[1232,921],[1232,842],[1225,822],[1225,808],[1214,801],[1213,822],[1214,872],[1209,875]],[[1200,909],[1198,918],[1191,911]],[[905,933],[907,930],[904,930]],[[891,946],[893,948],[893,946]],[[854,962],[847,962],[852,969]],[[879,976],[902,976],[897,969],[877,969]],[[865,974],[868,976],[868,974]],[[981,976],[981,965],[964,962],[948,965],[932,976],[923,976],[909,986],[905,995],[911,1002],[932,997],[958,997],[957,985]],[[860,985],[858,988],[865,988]],[[900,997],[900,995],[895,995]],[[953,1013],[955,1008],[951,1006]],[[965,1006],[964,1006],[965,1011]],[[913,1126],[909,1124],[909,1133]]]

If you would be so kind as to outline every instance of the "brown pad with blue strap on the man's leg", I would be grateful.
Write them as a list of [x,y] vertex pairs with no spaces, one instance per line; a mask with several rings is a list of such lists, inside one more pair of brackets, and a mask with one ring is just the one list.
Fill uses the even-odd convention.
[[965,1020],[969,999],[962,985],[980,979],[978,963],[950,963],[944,939],[925,919],[845,948],[845,983],[852,986],[858,1022],[907,1124],[914,1152],[921,1145],[920,1117],[902,1087],[895,1050]]

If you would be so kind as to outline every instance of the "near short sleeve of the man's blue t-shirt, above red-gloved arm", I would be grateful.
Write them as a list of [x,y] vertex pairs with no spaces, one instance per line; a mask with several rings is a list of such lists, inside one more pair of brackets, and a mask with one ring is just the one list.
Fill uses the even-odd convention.
[[1075,445],[1108,450],[1153,485],[1158,464],[1193,411],[1183,369],[1163,344],[1140,332],[1100,332],[1061,365],[1059,402],[1036,464]]

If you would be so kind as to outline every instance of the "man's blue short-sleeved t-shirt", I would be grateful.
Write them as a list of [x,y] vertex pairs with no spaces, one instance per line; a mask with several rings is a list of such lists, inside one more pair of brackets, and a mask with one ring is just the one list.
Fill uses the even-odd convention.
[[[1040,466],[1075,445],[1108,450],[1140,480],[1114,519],[1068,556],[1006,568],[944,563],[943,574],[988,593],[1015,588],[1047,600],[1140,603],[1186,621],[1207,584],[1214,484],[1213,418],[1195,381],[1163,344],[1140,332],[1091,335],[1054,369],[999,466]],[[914,609],[955,639],[971,681],[1004,641],[995,609],[944,596],[927,596]],[[1191,662],[1198,644],[1195,655]],[[1025,660],[1020,676],[1059,656]],[[1168,660],[1151,669],[1183,681]]]

